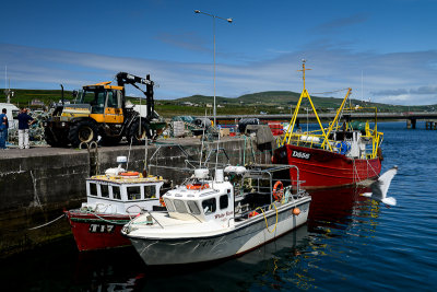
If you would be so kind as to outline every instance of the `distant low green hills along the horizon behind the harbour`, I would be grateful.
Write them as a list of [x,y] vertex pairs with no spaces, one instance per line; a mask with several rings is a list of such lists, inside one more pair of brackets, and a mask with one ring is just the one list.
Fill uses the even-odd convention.
[[[13,90],[14,96],[11,100],[17,106],[29,106],[33,101],[40,101],[46,105],[51,103],[58,103],[61,100],[60,90]],[[239,114],[259,114],[264,112],[268,114],[287,114],[290,113],[290,106],[295,106],[299,98],[300,93],[290,91],[267,91],[259,93],[245,94],[239,97],[223,97],[216,96],[217,105],[222,107],[217,108],[218,115],[239,115]],[[72,92],[66,91],[64,98],[71,101]],[[133,103],[135,98],[129,98]],[[311,96],[311,100],[318,110],[335,109],[340,106],[342,98],[335,97],[319,97]],[[161,100],[156,101],[156,109],[165,113],[166,116],[170,115],[202,115],[206,104],[213,104],[213,96],[204,95],[192,95],[181,97],[177,100]],[[4,91],[0,90],[0,103],[5,102]],[[190,102],[198,106],[186,106],[184,103]],[[351,100],[352,105],[361,105],[362,102],[357,100]],[[378,107],[379,112],[422,112],[422,110],[434,110],[437,109],[437,105],[427,106],[400,106],[389,105],[380,103],[367,103],[369,107]],[[303,107],[308,107],[307,101],[303,104]],[[211,110],[211,109],[209,109]]]

